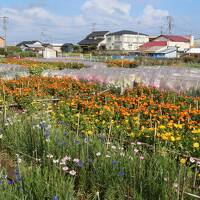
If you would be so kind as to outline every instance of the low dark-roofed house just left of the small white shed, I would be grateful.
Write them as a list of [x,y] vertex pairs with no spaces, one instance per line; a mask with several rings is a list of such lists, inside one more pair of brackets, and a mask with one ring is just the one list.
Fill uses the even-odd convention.
[[17,44],[17,47],[20,47],[22,51],[30,50],[39,54],[42,54],[42,51],[44,50],[43,44],[37,40],[20,42]]

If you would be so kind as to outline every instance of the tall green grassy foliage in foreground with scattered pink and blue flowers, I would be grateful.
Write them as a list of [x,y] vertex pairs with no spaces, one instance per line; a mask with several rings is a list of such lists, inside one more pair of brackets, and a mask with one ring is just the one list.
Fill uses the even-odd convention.
[[174,200],[184,191],[197,192],[194,165],[179,164],[179,156],[163,147],[152,150],[103,134],[87,137],[44,113],[12,119],[2,125],[0,148],[10,158],[19,154],[21,162],[14,183],[1,178],[2,199]]

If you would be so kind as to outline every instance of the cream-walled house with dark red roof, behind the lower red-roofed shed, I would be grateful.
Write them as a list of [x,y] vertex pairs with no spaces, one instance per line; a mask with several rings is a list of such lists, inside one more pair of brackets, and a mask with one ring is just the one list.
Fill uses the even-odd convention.
[[167,42],[168,47],[177,47],[182,52],[194,46],[193,36],[160,35],[152,42]]

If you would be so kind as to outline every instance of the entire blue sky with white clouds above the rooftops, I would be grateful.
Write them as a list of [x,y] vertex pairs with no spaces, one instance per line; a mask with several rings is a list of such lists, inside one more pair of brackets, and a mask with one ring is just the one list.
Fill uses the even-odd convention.
[[[168,32],[200,38],[199,0],[0,0],[7,16],[8,43],[40,40],[77,43],[92,30],[133,30],[159,35]],[[0,19],[0,36],[3,36]]]

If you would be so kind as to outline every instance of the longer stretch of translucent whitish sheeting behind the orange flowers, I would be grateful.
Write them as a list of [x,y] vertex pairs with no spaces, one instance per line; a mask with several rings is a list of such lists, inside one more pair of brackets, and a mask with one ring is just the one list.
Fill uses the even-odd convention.
[[46,70],[42,75],[70,76],[78,80],[96,81],[121,87],[122,91],[133,87],[135,82],[177,92],[188,91],[191,88],[200,89],[200,70],[182,67],[108,68],[96,63],[93,67],[80,70]]

